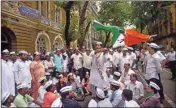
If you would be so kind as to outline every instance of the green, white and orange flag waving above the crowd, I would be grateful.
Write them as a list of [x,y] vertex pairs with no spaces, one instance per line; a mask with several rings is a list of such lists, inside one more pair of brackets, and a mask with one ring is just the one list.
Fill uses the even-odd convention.
[[95,20],[93,21],[92,25],[97,31],[99,30],[110,31],[113,34],[112,37],[113,48],[124,45],[131,46],[134,44],[138,44],[140,42],[145,42],[151,38],[151,36],[141,34],[134,29],[124,30],[122,27],[118,26],[105,26]]

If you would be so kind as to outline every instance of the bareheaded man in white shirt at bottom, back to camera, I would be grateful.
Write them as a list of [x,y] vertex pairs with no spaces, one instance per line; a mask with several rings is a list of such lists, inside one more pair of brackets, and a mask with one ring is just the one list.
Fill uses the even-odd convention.
[[129,89],[124,89],[122,92],[122,99],[125,101],[125,108],[134,107],[139,108],[140,106],[133,99],[133,92]]

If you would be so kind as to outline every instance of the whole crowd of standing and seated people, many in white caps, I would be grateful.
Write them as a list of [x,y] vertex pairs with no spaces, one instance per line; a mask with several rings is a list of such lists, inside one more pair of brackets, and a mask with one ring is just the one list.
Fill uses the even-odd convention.
[[[176,53],[167,56],[155,43],[94,50],[55,49],[33,55],[2,51],[2,104],[6,107],[82,107],[79,101],[92,96],[87,107],[160,107],[164,100],[160,74],[170,64],[175,78]],[[140,63],[139,61],[142,61]],[[140,71],[146,73],[144,84]]]

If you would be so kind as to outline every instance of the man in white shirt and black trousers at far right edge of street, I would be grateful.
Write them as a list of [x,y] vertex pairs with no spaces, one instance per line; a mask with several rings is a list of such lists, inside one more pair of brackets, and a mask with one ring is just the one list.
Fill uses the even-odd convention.
[[168,61],[169,61],[169,68],[172,72],[171,80],[175,79],[175,70],[176,70],[176,52],[174,48],[171,48],[171,51],[168,53]]

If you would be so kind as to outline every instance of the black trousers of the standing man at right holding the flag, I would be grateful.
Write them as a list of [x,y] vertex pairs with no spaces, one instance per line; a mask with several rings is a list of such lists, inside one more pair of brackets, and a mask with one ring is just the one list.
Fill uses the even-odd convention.
[[161,83],[161,80],[160,80],[160,74],[159,74],[159,80],[156,78],[151,78],[151,79],[147,80],[147,83],[150,84],[150,81],[155,82],[160,87],[160,90],[158,92],[160,94],[160,99],[163,100],[164,99],[164,92],[163,92],[163,84]]

